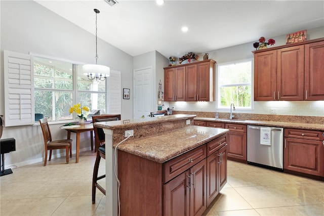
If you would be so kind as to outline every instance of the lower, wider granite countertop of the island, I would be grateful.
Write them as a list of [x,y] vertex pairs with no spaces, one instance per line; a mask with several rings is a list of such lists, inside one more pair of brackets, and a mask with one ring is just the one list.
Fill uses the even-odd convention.
[[126,140],[117,149],[164,163],[227,132],[228,129],[223,128],[189,125],[167,133]]

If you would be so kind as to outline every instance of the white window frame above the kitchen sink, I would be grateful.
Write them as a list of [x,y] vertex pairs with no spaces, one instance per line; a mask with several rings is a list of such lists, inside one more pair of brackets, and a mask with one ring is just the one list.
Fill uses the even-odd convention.
[[[251,107],[239,107],[239,106],[235,106],[235,110],[244,110],[244,111],[251,111],[254,109],[254,59],[253,58],[249,58],[249,59],[241,59],[241,60],[236,60],[236,61],[230,61],[230,62],[223,62],[223,63],[217,63],[217,69],[216,69],[216,81],[215,81],[215,85],[216,85],[216,95],[217,95],[217,100],[216,100],[216,109],[217,110],[228,110],[230,109],[230,106],[228,107],[223,107],[220,106],[221,104],[221,91],[220,88],[221,87],[234,87],[234,86],[241,86],[242,83],[240,84],[227,84],[227,85],[221,85],[219,83],[220,80],[220,67],[224,66],[224,65],[232,65],[232,64],[238,64],[238,63],[244,63],[244,62],[251,62]],[[248,85],[247,83],[245,83],[245,85]],[[235,103],[234,103],[235,104]]]

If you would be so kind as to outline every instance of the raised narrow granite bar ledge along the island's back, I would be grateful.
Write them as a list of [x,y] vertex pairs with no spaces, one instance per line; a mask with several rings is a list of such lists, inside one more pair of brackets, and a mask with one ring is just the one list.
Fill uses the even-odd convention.
[[177,121],[181,119],[192,119],[194,117],[196,117],[196,115],[176,114],[176,115],[149,117],[149,118],[146,117],[146,118],[119,120],[119,121],[96,122],[94,123],[94,125],[102,128],[123,129],[126,127],[143,126],[143,125],[156,124],[161,122]]

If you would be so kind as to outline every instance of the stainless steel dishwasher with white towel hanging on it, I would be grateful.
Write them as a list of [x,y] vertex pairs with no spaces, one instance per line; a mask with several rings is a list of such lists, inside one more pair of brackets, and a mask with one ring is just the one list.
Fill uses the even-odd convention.
[[248,125],[248,163],[284,169],[284,129]]

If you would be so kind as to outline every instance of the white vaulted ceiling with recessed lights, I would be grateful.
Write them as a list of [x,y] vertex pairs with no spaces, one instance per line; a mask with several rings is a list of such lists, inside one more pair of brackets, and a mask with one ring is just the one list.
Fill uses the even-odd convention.
[[[205,53],[323,26],[324,1],[125,1],[34,0],[131,56]],[[189,28],[181,31],[182,26]],[[251,44],[251,50],[254,48]]]

